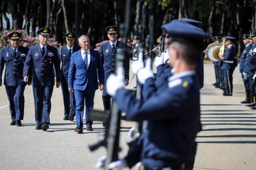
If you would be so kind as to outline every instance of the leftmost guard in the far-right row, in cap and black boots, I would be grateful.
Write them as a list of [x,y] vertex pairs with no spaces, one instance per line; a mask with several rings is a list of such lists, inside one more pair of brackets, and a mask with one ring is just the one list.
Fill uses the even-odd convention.
[[248,81],[248,78],[246,75],[246,77],[244,76],[243,72],[244,72],[244,65],[245,65],[245,61],[246,61],[246,55],[248,55],[250,48],[252,47],[252,44],[250,44],[250,39],[249,39],[249,34],[244,34],[243,36],[243,42],[244,42],[244,50],[243,53],[240,57],[240,68],[239,68],[239,72],[242,75],[242,79],[244,81],[244,87],[245,87],[245,100],[241,101],[241,103],[251,103],[250,102],[250,84]]

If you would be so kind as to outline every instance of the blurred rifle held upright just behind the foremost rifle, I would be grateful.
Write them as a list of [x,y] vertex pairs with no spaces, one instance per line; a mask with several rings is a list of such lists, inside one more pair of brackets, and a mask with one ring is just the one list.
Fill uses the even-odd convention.
[[[139,25],[139,34],[140,34],[140,38],[141,38],[141,42],[139,44],[139,48],[138,48],[138,55],[142,55],[143,61],[144,61],[144,32],[145,32],[145,27],[146,27],[146,20],[145,20],[145,6],[142,6],[142,26]],[[138,60],[138,55],[136,56],[136,58],[134,60]],[[135,75],[135,74],[134,74]],[[134,76],[133,76],[134,77]],[[132,79],[133,79],[132,77]],[[141,99],[141,89],[140,86],[138,84],[137,81],[137,85],[136,85],[136,99]],[[142,122],[137,122],[135,125],[135,130],[134,130],[134,135],[132,136],[132,139],[127,141],[128,146],[131,148],[132,146],[134,146],[139,139],[139,135],[137,134],[142,134]]]

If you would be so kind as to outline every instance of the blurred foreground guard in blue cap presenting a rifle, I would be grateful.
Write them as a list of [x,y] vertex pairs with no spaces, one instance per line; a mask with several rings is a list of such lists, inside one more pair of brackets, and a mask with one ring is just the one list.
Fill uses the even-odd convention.
[[[140,161],[142,169],[146,170],[193,168],[195,138],[200,130],[200,85],[195,67],[202,40],[209,35],[184,22],[171,22],[164,28],[170,36],[170,66],[175,69],[166,91],[146,100],[136,99],[123,88],[122,67],[106,82],[108,94],[114,97],[118,108],[126,112],[126,119],[148,121],[148,129],[139,142],[130,148],[126,158],[112,162],[110,169],[132,167]],[[146,67],[137,74],[138,81],[146,86],[143,91],[147,91],[148,81],[154,81],[150,65],[147,59]]]

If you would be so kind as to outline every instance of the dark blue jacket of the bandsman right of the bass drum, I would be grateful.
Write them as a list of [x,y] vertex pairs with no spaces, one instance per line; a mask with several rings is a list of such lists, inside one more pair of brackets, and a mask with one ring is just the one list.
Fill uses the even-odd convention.
[[[226,52],[223,55],[223,65],[221,69],[232,69],[234,68],[234,58],[236,57],[236,46],[228,45]],[[225,61],[233,61],[233,63],[227,63]]]

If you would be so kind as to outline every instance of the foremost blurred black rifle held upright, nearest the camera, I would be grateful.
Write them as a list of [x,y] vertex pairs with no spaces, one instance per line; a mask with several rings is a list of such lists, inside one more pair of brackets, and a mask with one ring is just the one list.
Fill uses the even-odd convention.
[[[117,68],[124,65],[125,53],[127,53],[126,43],[127,35],[130,25],[130,0],[126,1],[125,9],[125,22],[120,24],[120,37],[124,37],[125,46],[122,47],[120,53],[116,55],[116,69],[115,73],[117,74]],[[94,121],[106,121],[106,132],[103,140],[100,140],[94,144],[89,145],[91,151],[96,150],[100,146],[105,146],[107,148],[107,159],[104,165],[104,170],[108,170],[108,165],[118,160],[118,152],[120,151],[119,147],[119,129],[120,129],[120,117],[121,111],[118,110],[118,107],[114,100],[112,100],[111,112],[104,113],[102,111],[90,111],[90,119]]]

